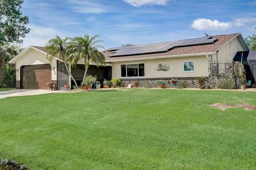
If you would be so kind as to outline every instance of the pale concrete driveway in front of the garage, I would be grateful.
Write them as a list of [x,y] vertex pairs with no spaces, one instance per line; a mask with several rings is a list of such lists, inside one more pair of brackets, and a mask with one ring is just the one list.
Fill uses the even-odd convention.
[[38,89],[15,89],[0,91],[0,99],[6,97],[18,97],[18,96],[33,96],[33,95],[43,95],[43,94],[53,94],[60,91],[49,91],[49,90],[38,90]]

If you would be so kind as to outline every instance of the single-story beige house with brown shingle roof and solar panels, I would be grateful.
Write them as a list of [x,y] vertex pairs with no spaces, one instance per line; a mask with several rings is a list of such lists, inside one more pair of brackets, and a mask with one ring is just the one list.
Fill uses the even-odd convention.
[[[199,37],[110,48],[102,52],[107,65],[96,67],[91,63],[88,74],[96,75],[102,82],[113,77],[125,82],[126,86],[147,81],[155,86],[157,79],[186,79],[190,87],[196,87],[197,77],[209,76],[209,61],[232,61],[237,52],[249,51],[241,33]],[[17,88],[44,89],[46,82],[54,82],[59,89],[71,84],[62,61],[57,57],[50,63],[44,47],[29,46],[9,63],[16,64]],[[69,65],[71,73],[82,81],[84,66]]]

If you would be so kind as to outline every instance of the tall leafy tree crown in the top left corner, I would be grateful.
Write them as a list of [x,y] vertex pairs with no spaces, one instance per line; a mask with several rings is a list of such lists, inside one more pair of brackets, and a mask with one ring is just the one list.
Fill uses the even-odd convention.
[[22,43],[21,38],[29,33],[28,16],[22,16],[20,11],[22,3],[22,0],[0,0],[0,45]]

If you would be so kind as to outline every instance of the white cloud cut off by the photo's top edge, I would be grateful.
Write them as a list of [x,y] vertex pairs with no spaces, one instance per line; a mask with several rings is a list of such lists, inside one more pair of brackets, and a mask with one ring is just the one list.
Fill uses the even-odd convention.
[[135,6],[145,6],[145,5],[166,5],[169,0],[123,0],[126,3]]

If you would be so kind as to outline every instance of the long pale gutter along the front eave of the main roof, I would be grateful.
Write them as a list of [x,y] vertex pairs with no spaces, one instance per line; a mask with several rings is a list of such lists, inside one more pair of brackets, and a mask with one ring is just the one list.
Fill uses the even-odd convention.
[[106,60],[106,62],[124,62],[124,61],[137,61],[137,60],[155,60],[159,58],[175,58],[175,57],[190,57],[190,56],[207,56],[214,55],[215,52],[210,53],[192,53],[192,54],[179,54],[179,55],[166,55],[166,56],[153,56],[153,57],[142,57],[142,58],[127,58],[127,59],[117,59],[117,60]]

